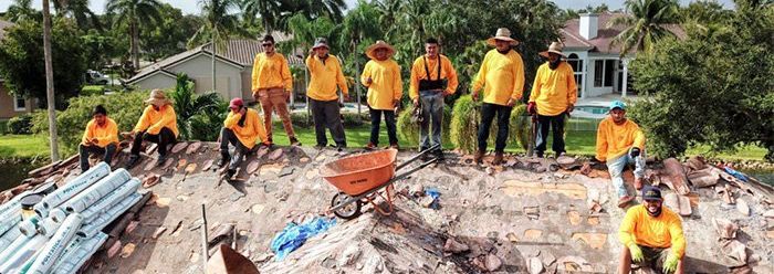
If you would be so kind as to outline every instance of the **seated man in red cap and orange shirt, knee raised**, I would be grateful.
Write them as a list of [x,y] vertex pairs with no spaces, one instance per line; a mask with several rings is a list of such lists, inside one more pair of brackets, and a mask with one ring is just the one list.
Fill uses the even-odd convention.
[[[237,172],[237,168],[242,164],[244,155],[255,148],[255,141],[261,140],[263,146],[270,146],[266,130],[258,115],[258,110],[244,105],[242,98],[233,98],[229,104],[229,115],[223,120],[223,128],[220,130],[220,161],[218,166],[229,165],[226,178],[231,178]],[[229,154],[229,144],[233,146],[234,157]]]

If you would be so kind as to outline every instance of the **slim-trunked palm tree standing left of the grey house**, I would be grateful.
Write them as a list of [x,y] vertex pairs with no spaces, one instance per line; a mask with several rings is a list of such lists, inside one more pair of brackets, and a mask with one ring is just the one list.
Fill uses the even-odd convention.
[[155,24],[161,21],[158,0],[108,0],[107,13],[117,14],[114,24],[127,22],[134,70],[139,70],[139,30],[140,23]]

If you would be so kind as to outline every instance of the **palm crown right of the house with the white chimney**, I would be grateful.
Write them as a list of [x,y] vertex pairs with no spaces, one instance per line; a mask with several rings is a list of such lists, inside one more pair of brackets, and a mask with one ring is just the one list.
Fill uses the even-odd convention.
[[626,10],[628,15],[614,18],[607,24],[625,27],[610,41],[611,45],[621,45],[621,56],[631,49],[648,52],[659,40],[674,35],[666,25],[679,20],[677,0],[627,0]]

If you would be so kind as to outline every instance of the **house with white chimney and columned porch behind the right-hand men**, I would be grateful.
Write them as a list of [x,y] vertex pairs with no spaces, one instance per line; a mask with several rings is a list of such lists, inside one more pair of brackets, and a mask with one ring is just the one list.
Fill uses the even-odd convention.
[[[620,12],[599,14],[580,14],[578,19],[568,20],[559,30],[564,42],[567,62],[575,71],[578,97],[618,98],[636,95],[630,86],[629,62],[635,54],[630,51],[621,57],[620,45],[610,45],[624,27],[607,27],[614,18],[626,17]],[[684,36],[679,25],[667,25],[672,33]]]

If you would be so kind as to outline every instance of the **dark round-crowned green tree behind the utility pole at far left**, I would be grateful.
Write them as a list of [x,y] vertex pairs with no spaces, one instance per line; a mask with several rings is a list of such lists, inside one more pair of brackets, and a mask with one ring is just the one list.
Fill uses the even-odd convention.
[[[41,22],[22,21],[6,30],[0,42],[0,73],[9,91],[48,104]],[[55,103],[63,108],[67,98],[76,96],[86,72],[80,31],[69,20],[56,19],[52,30],[53,83]]]

